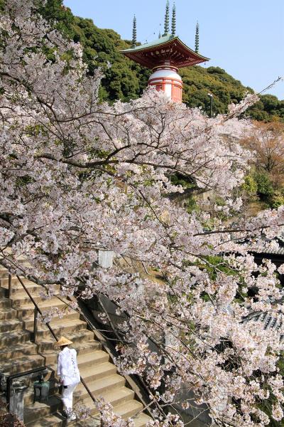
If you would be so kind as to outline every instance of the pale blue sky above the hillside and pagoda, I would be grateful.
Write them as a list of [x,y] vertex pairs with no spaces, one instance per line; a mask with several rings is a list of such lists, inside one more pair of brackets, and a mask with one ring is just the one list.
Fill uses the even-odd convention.
[[[73,14],[93,19],[131,39],[136,14],[137,39],[142,43],[163,31],[165,0],[64,0]],[[175,0],[177,33],[188,46],[195,43],[200,23],[200,53],[257,92],[284,76],[283,0]],[[173,5],[173,0],[170,0]],[[161,26],[160,26],[161,24]],[[268,91],[284,99],[284,81]]]

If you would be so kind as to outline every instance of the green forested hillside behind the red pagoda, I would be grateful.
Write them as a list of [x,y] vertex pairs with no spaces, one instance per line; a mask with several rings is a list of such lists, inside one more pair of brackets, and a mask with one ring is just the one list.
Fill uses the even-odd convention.
[[[48,0],[44,8],[39,7],[46,19],[58,21],[55,25],[60,31],[82,43],[89,73],[98,66],[102,67],[105,75],[101,89],[102,100],[129,100],[141,95],[151,70],[119,53],[121,49],[131,46],[130,41],[121,40],[119,34],[111,29],[98,28],[91,19],[74,16],[70,9],[62,6],[62,0]],[[182,68],[180,75],[185,84],[184,102],[190,107],[202,107],[205,112],[209,111],[209,92],[214,95],[213,112],[217,114],[226,112],[229,103],[241,100],[246,91],[251,91],[251,88],[245,88],[239,80],[219,67],[203,68],[197,65]],[[249,114],[256,120],[284,122],[284,100],[278,100],[273,95],[263,95]]]

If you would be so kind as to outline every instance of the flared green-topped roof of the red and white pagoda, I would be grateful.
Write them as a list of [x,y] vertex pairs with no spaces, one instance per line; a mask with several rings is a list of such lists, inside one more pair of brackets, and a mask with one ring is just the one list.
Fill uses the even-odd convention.
[[209,60],[205,56],[192,51],[178,36],[163,36],[151,43],[121,51],[125,56],[147,68],[164,65],[165,60],[176,68],[196,65]]

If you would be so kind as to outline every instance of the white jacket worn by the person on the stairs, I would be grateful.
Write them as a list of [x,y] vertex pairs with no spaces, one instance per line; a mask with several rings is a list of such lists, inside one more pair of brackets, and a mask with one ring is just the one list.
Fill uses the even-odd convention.
[[77,352],[75,349],[65,347],[58,354],[58,375],[63,386],[70,386],[80,382],[80,372],[77,365]]

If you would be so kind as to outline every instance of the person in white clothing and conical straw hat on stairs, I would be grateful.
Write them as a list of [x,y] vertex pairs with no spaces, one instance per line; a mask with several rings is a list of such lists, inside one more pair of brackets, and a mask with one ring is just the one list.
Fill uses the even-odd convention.
[[58,375],[62,383],[63,409],[67,414],[68,421],[75,420],[76,416],[72,413],[73,408],[73,391],[80,383],[80,372],[77,365],[77,352],[68,346],[72,344],[70,339],[61,337],[55,344],[60,347],[58,354]]

